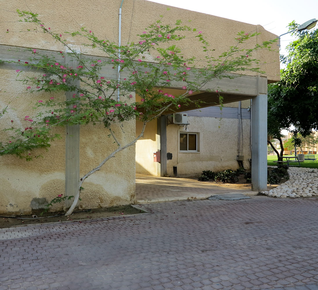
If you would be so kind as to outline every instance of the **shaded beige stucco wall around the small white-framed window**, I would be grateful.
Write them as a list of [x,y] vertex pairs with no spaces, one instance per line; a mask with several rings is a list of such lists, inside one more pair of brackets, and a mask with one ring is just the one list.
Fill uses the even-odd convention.
[[[237,169],[238,119],[212,117],[188,117],[190,125],[169,125],[167,127],[167,152],[172,159],[167,160],[167,174],[173,176],[173,166],[177,166],[178,176],[198,176],[203,170],[220,171]],[[248,158],[250,149],[250,120],[243,119],[244,167],[250,169]],[[196,153],[183,153],[178,150],[178,130],[199,133],[199,150]]]

